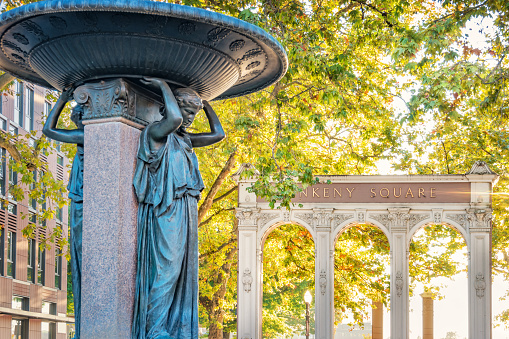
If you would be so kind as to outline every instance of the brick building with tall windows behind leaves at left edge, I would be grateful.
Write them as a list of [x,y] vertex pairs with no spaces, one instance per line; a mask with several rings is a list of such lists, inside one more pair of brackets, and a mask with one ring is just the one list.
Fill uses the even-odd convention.
[[[46,94],[42,87],[15,81],[1,96],[0,129],[18,137],[35,131],[35,138],[40,137],[43,116],[51,108]],[[54,220],[37,220],[36,211],[46,203],[27,194],[22,201],[12,198],[9,186],[21,178],[9,169],[9,153],[3,148],[0,152],[0,194],[5,201],[0,209],[0,338],[65,339],[67,323],[73,322],[66,316],[67,261],[61,255],[66,249],[51,244],[51,249],[41,250],[39,243],[57,226],[67,237],[67,206],[56,211]],[[40,157],[56,179],[67,182],[68,159],[58,145]],[[34,173],[34,178],[41,174]],[[22,232],[29,224],[36,226],[30,239]]]

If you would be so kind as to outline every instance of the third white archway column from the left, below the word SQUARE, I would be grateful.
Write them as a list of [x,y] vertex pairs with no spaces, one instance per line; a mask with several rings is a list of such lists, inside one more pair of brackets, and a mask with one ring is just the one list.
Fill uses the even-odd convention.
[[391,232],[391,338],[407,339],[408,326],[408,218],[409,209],[389,209]]

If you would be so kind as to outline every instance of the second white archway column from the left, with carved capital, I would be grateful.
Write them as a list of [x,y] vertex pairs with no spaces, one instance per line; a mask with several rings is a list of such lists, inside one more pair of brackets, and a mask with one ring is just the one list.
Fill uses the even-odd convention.
[[315,209],[315,338],[334,335],[334,251],[331,243],[332,209]]

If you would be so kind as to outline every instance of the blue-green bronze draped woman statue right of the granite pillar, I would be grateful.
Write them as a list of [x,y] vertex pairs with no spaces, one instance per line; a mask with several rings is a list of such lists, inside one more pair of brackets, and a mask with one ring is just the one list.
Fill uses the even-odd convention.
[[[133,339],[198,338],[198,200],[203,181],[194,147],[224,139],[208,102],[189,88],[159,87],[161,121],[141,133],[134,188],[138,198],[138,267]],[[210,133],[188,133],[204,109]]]

